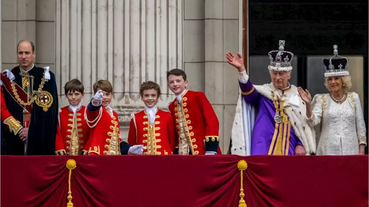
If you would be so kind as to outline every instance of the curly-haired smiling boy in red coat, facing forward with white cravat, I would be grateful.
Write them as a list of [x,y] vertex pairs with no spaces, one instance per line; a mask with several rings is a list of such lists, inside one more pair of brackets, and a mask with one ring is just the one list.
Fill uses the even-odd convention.
[[175,149],[172,116],[158,109],[160,86],[152,81],[141,84],[140,95],[145,109],[132,116],[128,143],[144,144],[144,155],[171,155]]

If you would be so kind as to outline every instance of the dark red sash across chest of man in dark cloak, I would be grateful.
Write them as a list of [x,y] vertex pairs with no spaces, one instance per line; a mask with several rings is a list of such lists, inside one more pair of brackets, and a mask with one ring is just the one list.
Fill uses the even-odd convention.
[[26,109],[28,113],[31,113],[32,112],[31,105],[23,105],[18,101],[18,99],[20,99],[24,103],[27,103],[29,101],[28,94],[23,90],[23,88],[20,87],[15,82],[10,81],[10,79],[2,73],[0,73],[0,80],[3,82],[4,88],[8,91],[11,97],[13,97],[14,101],[17,102],[20,106],[22,106],[23,109]]

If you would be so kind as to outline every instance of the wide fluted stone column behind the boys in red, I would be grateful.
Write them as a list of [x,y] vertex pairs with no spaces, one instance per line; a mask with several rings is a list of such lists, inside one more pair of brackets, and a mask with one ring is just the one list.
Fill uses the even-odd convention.
[[[121,136],[128,133],[130,114],[144,106],[142,82],[161,86],[159,107],[174,99],[166,71],[182,69],[182,0],[56,0],[55,25],[59,95],[67,81],[78,78],[86,104],[93,84],[109,80]],[[60,106],[67,103],[61,98]]]

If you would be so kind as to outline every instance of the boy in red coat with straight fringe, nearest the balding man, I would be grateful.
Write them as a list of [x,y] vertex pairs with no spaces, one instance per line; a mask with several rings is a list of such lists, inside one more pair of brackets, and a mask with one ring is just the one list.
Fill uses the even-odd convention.
[[81,81],[73,79],[64,86],[69,105],[59,110],[58,131],[55,140],[55,154],[87,154],[85,145],[90,137],[90,127],[85,120],[85,106],[81,101],[85,95]]

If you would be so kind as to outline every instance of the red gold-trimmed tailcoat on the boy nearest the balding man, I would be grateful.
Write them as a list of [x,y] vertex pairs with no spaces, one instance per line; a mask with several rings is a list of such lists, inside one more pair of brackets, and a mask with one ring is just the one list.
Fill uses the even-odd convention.
[[[56,133],[55,140],[55,153],[56,154],[68,154],[79,155],[83,151],[87,154],[85,146],[90,137],[90,127],[85,120],[85,106],[81,106],[76,112],[76,128],[77,138],[74,140],[72,136],[73,132],[73,111],[69,106],[61,108],[59,112],[59,124],[58,131]],[[78,149],[74,149],[77,145]],[[72,148],[72,151],[70,150]],[[85,150],[84,150],[85,149]]]

